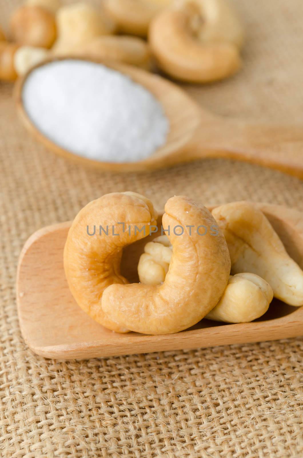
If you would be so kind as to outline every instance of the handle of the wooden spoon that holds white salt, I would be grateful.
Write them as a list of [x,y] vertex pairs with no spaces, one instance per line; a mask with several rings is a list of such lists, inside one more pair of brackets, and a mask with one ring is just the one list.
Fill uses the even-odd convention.
[[303,125],[213,120],[201,124],[189,146],[192,158],[238,159],[303,179]]

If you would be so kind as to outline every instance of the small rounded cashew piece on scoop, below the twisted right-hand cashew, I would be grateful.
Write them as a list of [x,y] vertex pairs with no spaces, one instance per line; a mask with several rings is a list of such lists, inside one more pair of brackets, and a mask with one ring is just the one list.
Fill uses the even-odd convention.
[[254,273],[231,275],[217,305],[206,315],[209,320],[248,323],[264,315],[272,301],[271,286]]

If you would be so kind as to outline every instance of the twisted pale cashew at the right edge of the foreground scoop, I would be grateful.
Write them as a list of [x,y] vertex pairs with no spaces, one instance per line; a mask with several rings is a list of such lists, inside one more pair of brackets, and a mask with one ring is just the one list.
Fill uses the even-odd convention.
[[265,215],[249,202],[222,205],[212,214],[227,241],[232,272],[255,273],[271,285],[275,297],[303,305],[303,271]]

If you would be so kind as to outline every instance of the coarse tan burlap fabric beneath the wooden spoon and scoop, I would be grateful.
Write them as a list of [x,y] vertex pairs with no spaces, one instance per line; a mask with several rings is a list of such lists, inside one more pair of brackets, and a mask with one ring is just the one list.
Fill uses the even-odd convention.
[[[18,3],[0,0],[3,25]],[[247,25],[243,71],[189,92],[224,116],[303,122],[303,2],[236,3]],[[27,135],[11,91],[0,84],[2,456],[302,457],[302,339],[46,360],[22,340],[15,274],[33,231],[73,218],[106,192],[141,192],[157,207],[182,193],[205,203],[249,199],[303,210],[303,182],[225,160],[122,176],[85,170]]]

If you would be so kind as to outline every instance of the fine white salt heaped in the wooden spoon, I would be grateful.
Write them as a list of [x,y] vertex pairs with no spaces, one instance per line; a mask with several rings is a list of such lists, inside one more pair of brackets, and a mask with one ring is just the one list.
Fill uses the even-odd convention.
[[32,123],[65,150],[104,162],[135,162],[167,137],[168,120],[147,89],[104,65],[61,60],[38,67],[22,91]]

